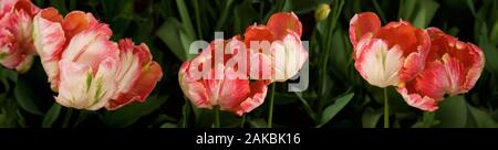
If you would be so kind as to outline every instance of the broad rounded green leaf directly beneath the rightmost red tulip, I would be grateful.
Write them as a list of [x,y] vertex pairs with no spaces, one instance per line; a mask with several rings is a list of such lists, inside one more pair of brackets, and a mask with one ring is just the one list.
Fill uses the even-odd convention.
[[467,124],[467,103],[463,96],[445,98],[439,103],[435,118],[440,122],[438,128],[463,128]]

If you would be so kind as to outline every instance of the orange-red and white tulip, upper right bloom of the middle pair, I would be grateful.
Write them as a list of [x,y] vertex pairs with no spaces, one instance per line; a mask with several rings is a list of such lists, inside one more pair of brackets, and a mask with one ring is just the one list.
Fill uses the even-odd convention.
[[[286,82],[303,67],[308,52],[301,43],[302,25],[292,12],[274,13],[267,25],[253,24],[246,30],[245,43],[251,61],[261,67],[251,67],[251,76],[271,82]],[[255,46],[256,42],[259,46]],[[267,44],[262,44],[267,42]],[[252,65],[258,63],[252,63]],[[264,68],[269,67],[269,68]],[[271,73],[261,73],[269,71]],[[271,75],[271,76],[269,76]]]

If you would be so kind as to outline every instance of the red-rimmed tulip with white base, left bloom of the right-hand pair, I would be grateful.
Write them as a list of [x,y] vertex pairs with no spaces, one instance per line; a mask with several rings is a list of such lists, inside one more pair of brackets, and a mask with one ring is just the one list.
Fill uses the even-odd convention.
[[350,22],[354,66],[371,85],[398,86],[424,69],[430,42],[426,31],[405,21],[381,26],[375,13],[359,13]]

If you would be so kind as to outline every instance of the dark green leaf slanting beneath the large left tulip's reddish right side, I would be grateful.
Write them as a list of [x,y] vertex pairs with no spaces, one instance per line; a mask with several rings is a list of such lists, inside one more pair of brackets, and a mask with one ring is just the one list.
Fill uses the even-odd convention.
[[127,127],[136,122],[141,117],[160,108],[167,99],[167,96],[154,96],[147,98],[144,103],[134,101],[132,105],[124,106],[117,110],[104,113],[101,119],[107,127]]

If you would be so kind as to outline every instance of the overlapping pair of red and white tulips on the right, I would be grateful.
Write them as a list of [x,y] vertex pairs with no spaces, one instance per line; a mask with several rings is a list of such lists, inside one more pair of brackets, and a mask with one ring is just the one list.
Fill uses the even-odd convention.
[[418,109],[436,110],[445,95],[467,93],[484,68],[481,50],[437,28],[409,22],[381,26],[375,13],[351,19],[354,66],[371,85],[396,86],[404,100]]

